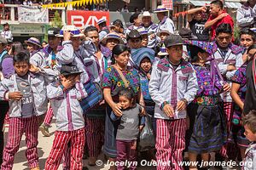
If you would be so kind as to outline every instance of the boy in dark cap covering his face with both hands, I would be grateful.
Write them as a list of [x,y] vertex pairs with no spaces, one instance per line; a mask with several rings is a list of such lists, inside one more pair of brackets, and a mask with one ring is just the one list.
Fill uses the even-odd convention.
[[83,84],[79,82],[82,72],[76,65],[62,65],[61,82],[53,82],[47,86],[47,96],[56,117],[57,130],[45,163],[46,170],[58,169],[63,154],[67,169],[83,167],[84,117],[79,100],[84,99],[87,94]]

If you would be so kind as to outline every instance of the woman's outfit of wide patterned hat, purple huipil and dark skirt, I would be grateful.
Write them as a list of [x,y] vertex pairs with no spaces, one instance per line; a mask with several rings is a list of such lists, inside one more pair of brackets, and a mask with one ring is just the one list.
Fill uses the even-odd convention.
[[[205,53],[212,54],[212,43],[210,42],[185,42],[192,45],[190,50],[202,48]],[[191,59],[195,57],[191,56]],[[211,153],[220,150],[227,139],[223,101],[220,97],[220,94],[224,92],[224,80],[214,60],[209,64],[192,63],[192,65],[197,77],[198,90],[195,99],[187,108],[190,121],[189,152],[195,154]]]

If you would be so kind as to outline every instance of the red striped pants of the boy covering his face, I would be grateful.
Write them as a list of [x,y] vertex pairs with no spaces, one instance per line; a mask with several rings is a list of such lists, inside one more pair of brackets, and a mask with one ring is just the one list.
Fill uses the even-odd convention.
[[[82,157],[84,152],[84,128],[75,131],[56,131],[52,149],[50,150],[45,170],[57,170],[61,163],[61,157],[67,152],[70,144],[70,160],[66,165],[70,170],[79,170],[83,167]],[[66,156],[68,154],[65,154]],[[67,161],[67,159],[65,159]]]

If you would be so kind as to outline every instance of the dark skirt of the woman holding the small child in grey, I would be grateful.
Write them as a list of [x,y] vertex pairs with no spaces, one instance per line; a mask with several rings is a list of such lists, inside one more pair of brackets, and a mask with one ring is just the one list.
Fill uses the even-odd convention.
[[105,117],[105,137],[104,137],[104,153],[106,156],[116,158],[116,133],[119,126],[119,121],[113,122],[110,118],[111,107],[107,106],[106,108],[106,117]]

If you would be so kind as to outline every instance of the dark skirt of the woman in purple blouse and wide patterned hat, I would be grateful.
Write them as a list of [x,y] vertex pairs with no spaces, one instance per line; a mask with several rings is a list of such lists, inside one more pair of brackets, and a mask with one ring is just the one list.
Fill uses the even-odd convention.
[[188,113],[189,152],[201,154],[220,150],[227,141],[222,105],[190,104]]

